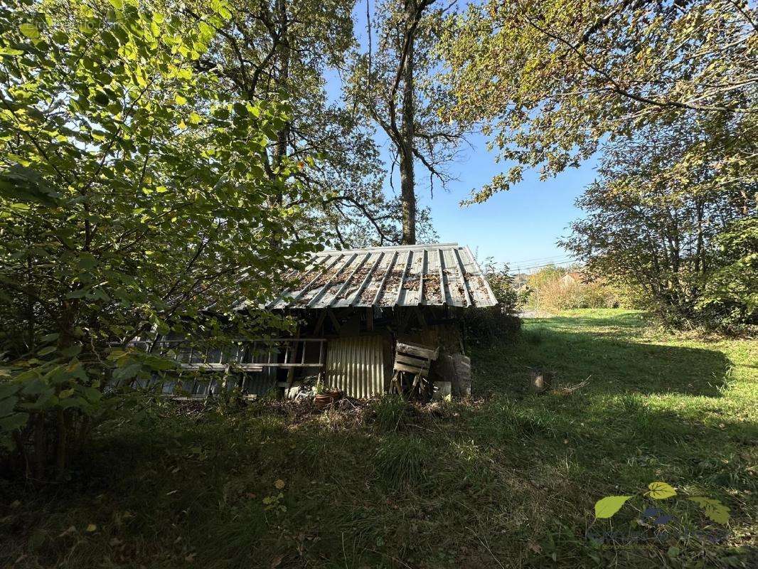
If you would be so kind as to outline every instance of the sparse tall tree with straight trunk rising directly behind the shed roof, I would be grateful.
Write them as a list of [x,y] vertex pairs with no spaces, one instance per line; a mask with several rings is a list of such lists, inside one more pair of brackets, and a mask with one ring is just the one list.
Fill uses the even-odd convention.
[[[356,55],[348,93],[378,124],[392,143],[393,169],[399,166],[402,242],[415,244],[415,164],[434,180],[446,184],[444,165],[456,155],[464,129],[458,122],[440,120],[440,109],[449,104],[449,93],[440,88],[434,74],[440,65],[435,51],[443,14],[434,0],[403,0],[377,5],[374,22],[368,21],[368,49]],[[371,45],[377,36],[377,50]],[[390,173],[391,176],[391,173]]]

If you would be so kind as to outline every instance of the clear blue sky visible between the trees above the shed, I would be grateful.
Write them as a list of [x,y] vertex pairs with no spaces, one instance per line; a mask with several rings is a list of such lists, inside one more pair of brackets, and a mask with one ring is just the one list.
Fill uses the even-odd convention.
[[[371,11],[373,13],[371,2]],[[461,2],[464,5],[465,2]],[[356,5],[355,31],[359,42],[365,42],[365,5]],[[365,46],[363,46],[365,48]],[[340,97],[340,79],[336,73],[327,73],[327,93],[330,99]],[[428,190],[428,172],[417,162],[416,188],[419,206],[430,206],[434,228],[440,242],[457,242],[468,245],[480,260],[493,257],[496,262],[508,262],[512,271],[537,268],[547,262],[567,264],[570,257],[556,245],[559,237],[569,233],[568,225],[581,217],[574,206],[584,187],[593,181],[595,161],[564,171],[556,178],[540,181],[536,171],[527,172],[524,180],[508,192],[496,193],[486,203],[459,206],[471,193],[492,180],[495,174],[506,170],[508,163],[496,163],[495,152],[487,151],[487,140],[480,134],[468,137],[471,147],[465,148],[462,157],[449,165],[448,171],[455,181],[443,191],[435,184],[434,198]],[[377,134],[377,143],[383,149],[383,158],[389,170],[387,138]],[[399,176],[395,172],[396,178]],[[392,194],[389,181],[385,192]],[[395,180],[399,190],[399,180]]]

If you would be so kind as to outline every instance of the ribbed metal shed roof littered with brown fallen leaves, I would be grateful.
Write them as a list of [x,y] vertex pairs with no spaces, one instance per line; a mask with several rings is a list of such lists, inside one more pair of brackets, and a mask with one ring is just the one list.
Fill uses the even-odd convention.
[[322,251],[296,287],[268,309],[345,307],[493,307],[495,295],[468,247],[457,243]]

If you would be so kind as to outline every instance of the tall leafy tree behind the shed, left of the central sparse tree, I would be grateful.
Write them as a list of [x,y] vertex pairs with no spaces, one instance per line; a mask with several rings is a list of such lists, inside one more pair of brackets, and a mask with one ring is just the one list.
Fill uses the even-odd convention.
[[[297,110],[276,125],[267,172],[276,175],[284,157],[304,165],[291,174],[301,193],[278,201],[308,206],[299,234],[325,228],[342,246],[356,238],[393,242],[399,219],[382,192],[373,131],[353,108],[327,96],[327,72],[344,67],[354,42],[352,7],[349,0],[236,2],[197,62],[218,69],[227,87],[251,102],[287,93]],[[187,8],[201,23],[207,10],[205,3]]]

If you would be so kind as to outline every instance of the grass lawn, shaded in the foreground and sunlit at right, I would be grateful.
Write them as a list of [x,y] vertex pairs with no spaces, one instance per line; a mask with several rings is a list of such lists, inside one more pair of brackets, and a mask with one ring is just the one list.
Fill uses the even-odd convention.
[[[471,356],[475,397],[437,413],[258,403],[108,426],[69,483],[2,486],[0,566],[758,567],[756,342],[579,310]],[[555,389],[529,394],[528,366]],[[644,497],[653,481],[678,495]],[[595,520],[606,495],[633,497]]]

